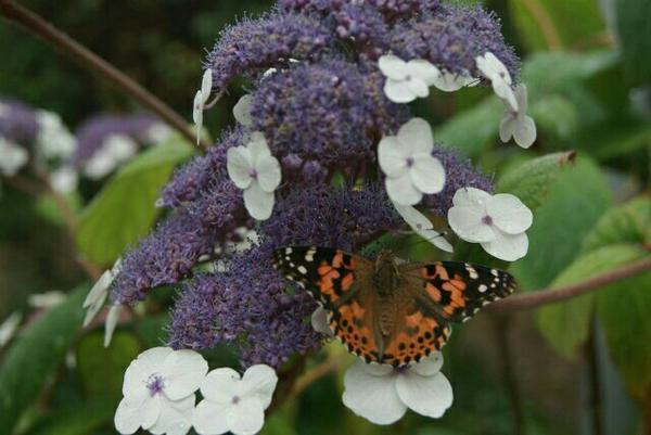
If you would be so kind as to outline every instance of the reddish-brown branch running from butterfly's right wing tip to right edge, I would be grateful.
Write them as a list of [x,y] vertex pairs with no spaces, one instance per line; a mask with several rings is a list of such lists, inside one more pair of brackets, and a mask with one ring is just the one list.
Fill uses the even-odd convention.
[[496,302],[493,309],[499,311],[536,308],[541,305],[556,304],[585,293],[591,292],[607,284],[630,278],[651,270],[651,257],[621,267],[610,272],[601,273],[576,284],[558,289],[545,289],[527,292]]

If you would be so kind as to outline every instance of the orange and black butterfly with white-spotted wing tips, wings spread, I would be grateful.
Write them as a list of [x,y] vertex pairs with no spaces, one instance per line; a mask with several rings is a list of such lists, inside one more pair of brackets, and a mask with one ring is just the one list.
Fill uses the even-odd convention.
[[450,322],[467,321],[515,289],[502,270],[406,263],[390,251],[371,260],[335,248],[289,246],[273,252],[272,264],[328,311],[330,329],[348,351],[396,368],[439,350]]

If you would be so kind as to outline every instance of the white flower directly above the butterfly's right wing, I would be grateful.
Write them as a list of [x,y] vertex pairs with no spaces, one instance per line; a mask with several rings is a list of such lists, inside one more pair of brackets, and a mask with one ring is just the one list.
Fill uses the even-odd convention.
[[464,241],[481,243],[494,257],[515,261],[528,250],[525,231],[533,223],[533,214],[509,193],[490,195],[480,189],[462,188],[455,193],[448,222]]

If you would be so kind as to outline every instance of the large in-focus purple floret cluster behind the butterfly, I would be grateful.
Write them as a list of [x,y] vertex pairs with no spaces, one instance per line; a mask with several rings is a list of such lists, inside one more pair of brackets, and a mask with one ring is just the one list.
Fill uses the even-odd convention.
[[[309,323],[316,303],[272,269],[270,256],[288,245],[359,252],[406,228],[379,177],[376,153],[378,142],[413,115],[385,97],[378,59],[395,53],[474,74],[474,59],[486,51],[516,76],[519,61],[493,14],[438,0],[281,0],[225,29],[204,66],[217,93],[238,77],[250,80],[251,119],[175,172],[159,201],[167,218],[124,257],[112,300],[133,304],[156,286],[176,285],[170,346],[228,343],[244,367],[279,367],[319,348],[323,337]],[[250,216],[227,170],[229,150],[247,145],[254,132],[264,135],[282,172],[264,221]],[[462,187],[493,191],[455,151],[435,146],[433,156],[446,183],[424,196],[429,212],[445,216]],[[255,242],[242,247],[252,230]],[[212,268],[199,267],[206,264]]]

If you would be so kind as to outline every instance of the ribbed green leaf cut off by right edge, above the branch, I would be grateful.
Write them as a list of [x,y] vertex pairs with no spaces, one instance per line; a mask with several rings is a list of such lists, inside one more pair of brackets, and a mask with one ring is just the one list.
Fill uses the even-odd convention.
[[586,236],[583,250],[587,252],[615,243],[651,244],[650,196],[639,196],[611,208]]

